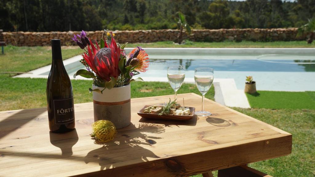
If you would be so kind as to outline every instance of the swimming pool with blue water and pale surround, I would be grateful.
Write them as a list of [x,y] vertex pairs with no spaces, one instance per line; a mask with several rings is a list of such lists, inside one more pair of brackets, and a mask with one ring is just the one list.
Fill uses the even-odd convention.
[[[126,49],[128,53],[131,48]],[[166,81],[167,67],[186,66],[185,82],[194,83],[196,67],[212,67],[215,82],[234,79],[237,89],[244,89],[246,76],[253,76],[257,90],[315,91],[315,49],[312,48],[146,48],[150,57],[148,71],[138,75],[145,81]],[[81,56],[64,60],[73,74],[84,69]],[[47,78],[50,66],[15,77]],[[84,79],[77,77],[76,79]]]

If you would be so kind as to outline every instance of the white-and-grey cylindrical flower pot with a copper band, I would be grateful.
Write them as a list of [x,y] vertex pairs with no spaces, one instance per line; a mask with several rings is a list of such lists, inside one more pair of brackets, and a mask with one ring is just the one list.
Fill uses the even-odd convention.
[[[93,85],[93,89],[103,90]],[[130,84],[93,92],[94,121],[109,120],[116,129],[127,127],[131,121]]]

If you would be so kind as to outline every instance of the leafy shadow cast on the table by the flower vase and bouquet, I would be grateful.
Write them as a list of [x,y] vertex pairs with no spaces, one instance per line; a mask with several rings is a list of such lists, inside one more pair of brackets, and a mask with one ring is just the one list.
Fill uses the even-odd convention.
[[153,123],[140,123],[139,127],[130,124],[128,127],[118,130],[114,141],[100,143],[95,140],[95,144],[102,147],[90,151],[84,158],[85,163],[99,163],[100,169],[115,168],[117,163],[128,161],[148,161],[150,158],[159,158],[152,151],[148,150],[149,146],[157,144],[155,140],[160,137],[148,136],[147,133],[160,134],[165,129]]

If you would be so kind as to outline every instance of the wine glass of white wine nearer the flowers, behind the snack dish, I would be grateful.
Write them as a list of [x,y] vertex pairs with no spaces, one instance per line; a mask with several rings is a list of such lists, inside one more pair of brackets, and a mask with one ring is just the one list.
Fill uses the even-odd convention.
[[185,66],[169,66],[167,68],[167,78],[169,80],[169,85],[175,91],[175,100],[177,99],[177,90],[183,84],[185,79]]

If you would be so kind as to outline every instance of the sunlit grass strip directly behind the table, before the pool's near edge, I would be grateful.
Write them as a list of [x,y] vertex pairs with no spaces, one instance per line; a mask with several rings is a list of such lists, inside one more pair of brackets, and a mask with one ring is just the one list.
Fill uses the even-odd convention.
[[[92,94],[88,88],[92,81],[72,80],[74,103],[92,101]],[[38,108],[47,106],[46,83],[43,78],[10,78],[0,76],[0,111]],[[193,92],[200,94],[194,84],[183,84],[178,94]],[[133,82],[131,83],[131,97],[148,97],[174,94],[169,83],[160,82]],[[214,87],[206,94],[206,98],[214,100]],[[171,99],[174,99],[172,97]],[[168,100],[165,100],[168,101]],[[181,100],[179,100],[181,102]],[[201,100],[200,100],[201,102]],[[201,104],[201,103],[200,103]]]

